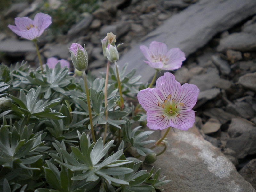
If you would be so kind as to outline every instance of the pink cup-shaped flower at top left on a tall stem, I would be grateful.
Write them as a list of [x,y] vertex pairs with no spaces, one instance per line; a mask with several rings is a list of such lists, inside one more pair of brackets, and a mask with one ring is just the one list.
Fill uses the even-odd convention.
[[8,27],[17,35],[33,40],[38,38],[44,30],[52,23],[51,16],[44,13],[37,13],[34,20],[28,17],[16,17],[15,25],[8,25]]

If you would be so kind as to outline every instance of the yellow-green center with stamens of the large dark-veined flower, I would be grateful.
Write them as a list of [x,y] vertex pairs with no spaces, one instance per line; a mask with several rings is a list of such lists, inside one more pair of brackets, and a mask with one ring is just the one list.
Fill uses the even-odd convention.
[[163,114],[161,116],[165,118],[171,116],[180,116],[180,106],[184,106],[184,103],[178,103],[170,94],[163,103],[158,101],[157,105],[163,109]]

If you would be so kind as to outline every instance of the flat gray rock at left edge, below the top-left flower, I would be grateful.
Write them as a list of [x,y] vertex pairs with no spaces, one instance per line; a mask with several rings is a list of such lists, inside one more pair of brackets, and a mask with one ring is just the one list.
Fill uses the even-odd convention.
[[32,41],[18,40],[18,39],[6,39],[0,43],[0,52],[8,54],[23,55],[26,52],[35,52],[36,47]]

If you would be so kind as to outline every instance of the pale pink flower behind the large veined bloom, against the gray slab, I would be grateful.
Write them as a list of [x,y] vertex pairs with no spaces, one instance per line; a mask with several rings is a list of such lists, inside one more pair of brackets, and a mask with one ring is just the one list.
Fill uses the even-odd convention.
[[166,44],[157,41],[152,41],[149,49],[145,45],[141,45],[140,50],[148,59],[144,62],[154,68],[174,70],[180,68],[182,61],[186,60],[185,53],[179,48],[172,48],[167,51]]

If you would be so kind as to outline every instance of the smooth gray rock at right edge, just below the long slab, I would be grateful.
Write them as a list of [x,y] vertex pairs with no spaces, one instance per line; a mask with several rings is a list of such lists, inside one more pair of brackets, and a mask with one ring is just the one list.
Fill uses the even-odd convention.
[[232,33],[220,40],[217,51],[222,52],[227,49],[237,51],[253,51],[256,50],[256,36],[252,33]]

